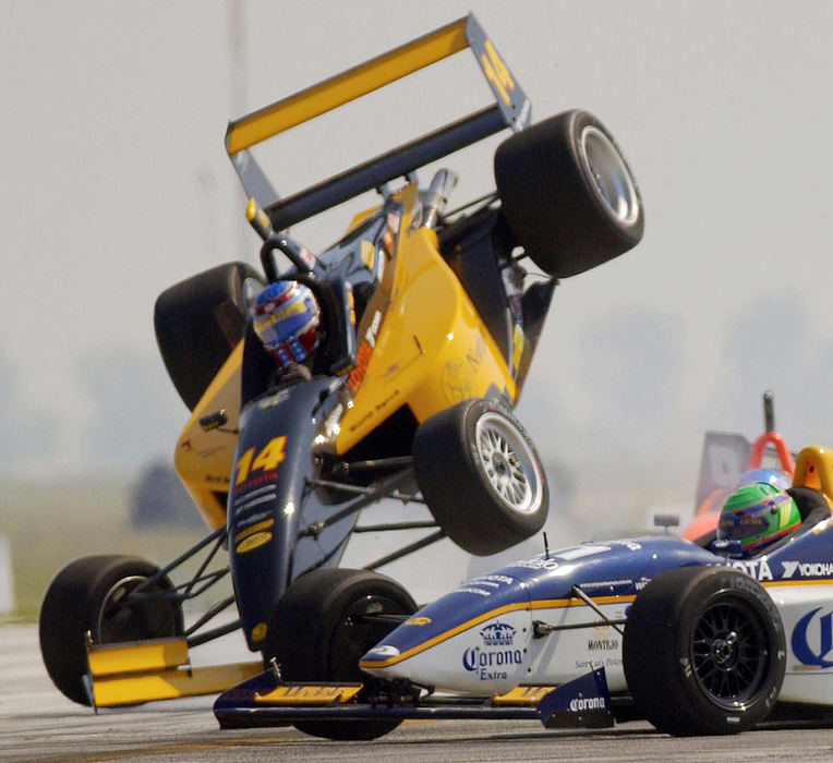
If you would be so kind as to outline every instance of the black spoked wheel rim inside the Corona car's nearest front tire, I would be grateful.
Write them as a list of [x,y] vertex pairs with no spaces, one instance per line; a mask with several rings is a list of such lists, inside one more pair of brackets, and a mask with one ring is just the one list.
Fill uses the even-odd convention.
[[769,639],[758,614],[743,601],[705,606],[691,633],[691,665],[703,693],[714,704],[739,710],[765,683]]

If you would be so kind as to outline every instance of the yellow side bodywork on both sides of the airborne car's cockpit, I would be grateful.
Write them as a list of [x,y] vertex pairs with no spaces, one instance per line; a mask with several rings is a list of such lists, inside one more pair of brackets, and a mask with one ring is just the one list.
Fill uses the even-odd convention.
[[[418,422],[490,390],[510,400],[516,385],[506,359],[481,320],[451,268],[437,250],[436,233],[412,228],[417,184],[397,197],[403,214],[395,267],[385,269],[379,293],[362,318],[358,341],[371,341],[370,360],[327,447],[345,453],[390,414],[408,405]],[[387,256],[379,252],[377,256]],[[369,335],[376,310],[378,331]],[[226,522],[225,496],[231,484],[240,414],[242,342],[206,389],[177,444],[174,465],[209,528]],[[204,431],[200,419],[218,410],[228,423]]]

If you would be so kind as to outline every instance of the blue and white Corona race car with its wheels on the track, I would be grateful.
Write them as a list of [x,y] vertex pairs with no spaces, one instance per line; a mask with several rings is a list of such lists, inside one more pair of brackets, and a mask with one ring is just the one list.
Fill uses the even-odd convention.
[[[339,578],[327,602],[301,591],[293,613],[311,654],[330,650],[329,673],[287,654],[221,694],[215,714],[224,727],[289,722],[373,738],[413,717],[555,727],[643,717],[713,735],[752,728],[776,704],[818,712],[833,705],[833,452],[805,448],[787,493],[797,525],[763,553],[740,555],[725,533],[544,553],[400,611],[360,658],[362,635],[397,620],[394,590],[381,576],[374,590],[360,570],[310,573]],[[339,659],[361,673],[353,663],[339,674]],[[355,680],[333,680],[350,670]]]

